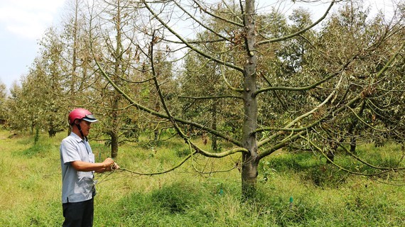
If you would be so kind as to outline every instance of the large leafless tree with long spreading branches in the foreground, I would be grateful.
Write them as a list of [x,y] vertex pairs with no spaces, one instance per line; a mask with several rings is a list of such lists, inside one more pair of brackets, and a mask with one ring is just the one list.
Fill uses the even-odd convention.
[[[349,74],[350,70],[359,67],[357,62],[361,62],[365,57],[374,54],[375,51],[382,51],[376,47],[383,43],[389,43],[389,40],[392,40],[395,34],[401,31],[397,28],[392,29],[389,24],[384,24],[384,29],[389,32],[374,34],[375,36],[369,37],[367,42],[356,46],[355,50],[343,52],[344,55],[337,55],[341,53],[338,51],[322,49],[320,45],[312,45],[311,40],[306,40],[305,35],[311,32],[311,28],[320,25],[320,22],[325,19],[337,2],[331,1],[323,16],[320,16],[315,22],[308,23],[308,20],[303,17],[299,20],[306,20],[307,23],[302,23],[301,26],[296,26],[294,29],[285,30],[276,29],[278,26],[276,23],[279,20],[272,16],[277,14],[258,15],[259,1],[139,2],[136,7],[138,9],[144,7],[142,13],[145,13],[140,15],[146,15],[149,18],[148,24],[145,24],[141,30],[145,32],[146,36],[150,36],[148,45],[145,45],[144,55],[145,59],[150,60],[145,62],[148,63],[148,70],[151,71],[151,78],[161,100],[163,107],[161,111],[140,104],[109,76],[102,62],[96,63],[104,78],[129,101],[131,106],[153,116],[167,119],[172,123],[178,135],[190,145],[190,155],[185,160],[197,153],[214,158],[241,153],[242,194],[245,199],[252,198],[256,191],[259,162],[264,157],[271,155],[276,150],[292,145],[297,140],[323,152],[322,148],[313,143],[311,135],[315,135],[320,128],[325,128],[325,123],[338,123],[339,118],[336,116],[345,116],[347,112],[352,113],[352,109],[356,109],[362,100],[374,92],[374,90],[369,89],[370,84],[362,86],[362,89],[346,88],[345,75]],[[203,31],[209,35],[196,35],[192,38],[186,38],[186,31],[178,29],[182,21],[188,21],[188,28],[192,31]],[[213,21],[216,21],[217,26],[212,26]],[[269,27],[274,29],[269,29]],[[303,40],[303,43],[309,43],[306,48],[312,46],[314,51],[322,52],[325,56],[330,57],[329,66],[315,65],[314,63],[311,67],[309,63],[307,65],[300,63],[301,65],[294,65],[289,71],[277,71],[271,64],[274,63],[273,66],[276,66],[277,62],[286,63],[287,59],[280,55],[277,56],[275,53],[281,51],[280,48],[286,47],[284,43],[291,40],[295,43]],[[333,45],[333,41],[331,41],[331,45]],[[154,57],[156,57],[155,52],[159,51],[156,50],[156,43],[161,43],[160,46],[164,46],[163,43],[168,43],[170,50],[165,51],[179,50],[185,55],[187,52],[195,52],[205,57],[207,62],[215,62],[220,65],[220,73],[223,77],[223,83],[228,88],[228,95],[235,97],[234,99],[242,100],[240,102],[242,111],[239,113],[242,126],[238,135],[223,133],[215,128],[210,128],[207,124],[189,121],[173,111],[171,106],[167,104],[166,96],[161,89],[161,82],[158,74],[156,74],[158,65],[154,65]],[[213,50],[210,48],[210,43],[216,43],[222,48]],[[306,55],[307,51],[303,48],[302,54]],[[387,58],[379,62],[381,67],[377,71],[372,72],[372,84],[379,82],[379,85],[384,87],[381,81],[382,75],[387,72],[389,67],[398,64],[397,58],[403,52],[404,40],[393,40]],[[271,55],[275,57],[269,57]],[[304,59],[302,56],[298,58]],[[367,64],[372,65],[373,62],[367,62]],[[274,73],[276,71],[279,73]],[[321,95],[314,96],[314,93],[321,93]],[[268,94],[274,97],[271,102],[263,100],[263,98],[269,97]],[[212,96],[211,98],[217,99],[218,97]],[[272,102],[279,102],[281,106],[287,105],[284,112],[274,111],[280,116],[281,113],[284,113],[282,118],[276,119],[276,121],[261,121],[259,118],[259,114],[263,110],[261,107],[266,104],[273,105]],[[234,145],[234,148],[220,153],[204,150],[193,143],[185,133],[186,128],[190,127],[198,128],[200,131],[227,140]],[[235,165],[239,164],[236,163]],[[403,168],[396,170],[401,169]],[[387,171],[389,170],[382,170],[382,172]]]

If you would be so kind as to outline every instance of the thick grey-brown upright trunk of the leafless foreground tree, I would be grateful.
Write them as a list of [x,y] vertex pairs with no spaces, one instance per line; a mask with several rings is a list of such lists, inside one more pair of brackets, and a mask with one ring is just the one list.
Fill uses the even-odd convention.
[[242,145],[249,152],[242,155],[242,199],[252,199],[256,194],[257,184],[257,97],[256,92],[256,65],[257,57],[254,47],[256,45],[254,28],[254,1],[246,1],[244,12],[244,26],[246,30],[245,44],[247,60],[244,65],[244,122],[242,128]]

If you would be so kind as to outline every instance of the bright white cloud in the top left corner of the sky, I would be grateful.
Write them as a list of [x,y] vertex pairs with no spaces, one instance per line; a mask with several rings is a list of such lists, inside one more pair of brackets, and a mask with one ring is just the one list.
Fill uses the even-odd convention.
[[65,0],[0,0],[0,27],[18,38],[38,39]]

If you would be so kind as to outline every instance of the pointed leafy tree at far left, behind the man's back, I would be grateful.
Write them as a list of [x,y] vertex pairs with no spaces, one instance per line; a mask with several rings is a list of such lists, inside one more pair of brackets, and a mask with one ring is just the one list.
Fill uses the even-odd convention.
[[65,126],[66,102],[63,96],[63,45],[53,28],[48,29],[40,42],[41,55],[36,57],[21,88],[12,90],[9,110],[16,117],[10,120],[13,129],[29,128],[48,131],[54,136]]

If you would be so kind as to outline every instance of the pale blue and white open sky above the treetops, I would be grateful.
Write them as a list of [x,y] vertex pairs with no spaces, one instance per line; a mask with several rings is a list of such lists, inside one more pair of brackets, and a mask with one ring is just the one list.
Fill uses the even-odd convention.
[[[38,40],[46,28],[58,26],[65,1],[0,0],[0,82],[7,88],[28,73],[38,56]],[[390,0],[367,1],[374,9],[383,11],[390,6]]]

